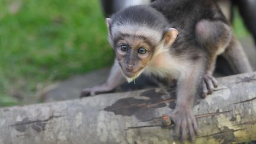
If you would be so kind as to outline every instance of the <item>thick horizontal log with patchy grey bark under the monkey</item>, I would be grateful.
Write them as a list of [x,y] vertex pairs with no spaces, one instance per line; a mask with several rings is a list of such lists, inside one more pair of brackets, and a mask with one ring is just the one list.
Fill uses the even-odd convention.
[[[195,102],[195,143],[256,140],[256,72],[217,81],[212,95]],[[174,107],[175,84],[2,108],[0,143],[173,143],[174,127],[162,127],[161,116]]]

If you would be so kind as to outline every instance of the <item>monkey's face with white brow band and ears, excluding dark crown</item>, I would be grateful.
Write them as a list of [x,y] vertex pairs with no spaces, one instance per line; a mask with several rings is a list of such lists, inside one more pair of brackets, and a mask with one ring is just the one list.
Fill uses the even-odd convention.
[[169,50],[177,37],[174,28],[149,27],[147,24],[115,23],[110,18],[108,41],[116,52],[117,60],[128,82],[136,79],[151,63],[153,57]]

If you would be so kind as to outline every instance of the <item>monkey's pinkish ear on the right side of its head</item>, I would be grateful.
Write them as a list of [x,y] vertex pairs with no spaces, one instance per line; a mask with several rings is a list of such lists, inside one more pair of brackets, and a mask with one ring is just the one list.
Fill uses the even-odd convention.
[[167,28],[164,36],[165,47],[171,46],[171,44],[174,43],[177,36],[178,36],[178,30],[176,30],[175,28]]

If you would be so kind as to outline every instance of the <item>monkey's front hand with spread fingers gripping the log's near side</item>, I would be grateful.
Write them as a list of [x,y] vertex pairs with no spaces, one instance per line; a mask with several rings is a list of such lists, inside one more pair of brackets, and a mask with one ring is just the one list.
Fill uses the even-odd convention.
[[175,135],[180,137],[180,133],[182,133],[181,140],[184,141],[187,139],[187,133],[189,132],[190,139],[194,142],[195,135],[199,133],[199,129],[191,107],[188,105],[176,107],[169,117],[174,121]]

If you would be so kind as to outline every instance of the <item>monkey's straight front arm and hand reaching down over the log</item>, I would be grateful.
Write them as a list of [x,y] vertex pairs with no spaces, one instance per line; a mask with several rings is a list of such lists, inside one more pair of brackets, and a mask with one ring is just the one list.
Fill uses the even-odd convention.
[[177,104],[174,113],[170,115],[175,123],[175,134],[181,139],[187,139],[187,132],[190,133],[191,140],[194,141],[195,135],[199,133],[197,122],[193,113],[194,97],[199,93],[202,76],[204,75],[203,60],[191,64],[187,72],[183,73],[178,79]]

